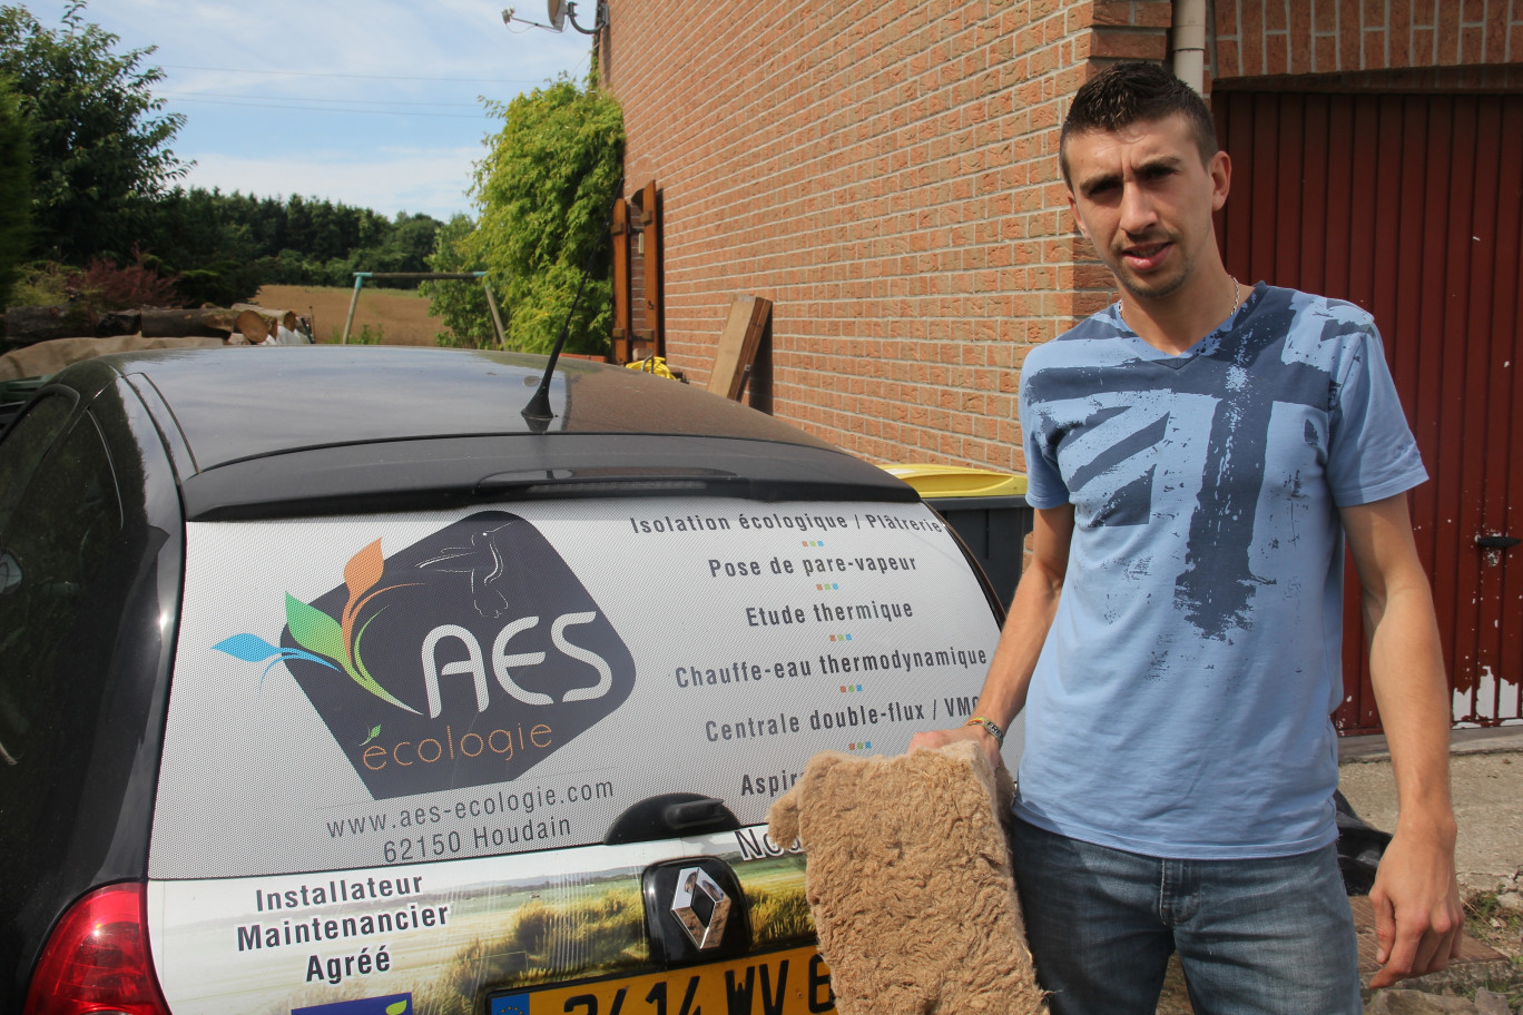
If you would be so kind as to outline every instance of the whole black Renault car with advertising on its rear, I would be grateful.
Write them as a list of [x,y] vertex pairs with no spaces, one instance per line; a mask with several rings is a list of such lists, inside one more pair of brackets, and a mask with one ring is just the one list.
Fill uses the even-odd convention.
[[544,371],[228,348],[38,391],[0,440],[0,1007],[833,1010],[766,810],[959,723],[998,603],[882,470],[586,362],[525,420]]

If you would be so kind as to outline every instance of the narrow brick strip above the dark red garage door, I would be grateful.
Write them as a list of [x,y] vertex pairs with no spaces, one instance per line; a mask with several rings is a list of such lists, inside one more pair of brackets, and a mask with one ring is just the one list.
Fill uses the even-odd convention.
[[[1212,3],[1217,79],[1523,61],[1523,5],[1515,0]],[[1509,79],[1515,85],[1515,68]]]

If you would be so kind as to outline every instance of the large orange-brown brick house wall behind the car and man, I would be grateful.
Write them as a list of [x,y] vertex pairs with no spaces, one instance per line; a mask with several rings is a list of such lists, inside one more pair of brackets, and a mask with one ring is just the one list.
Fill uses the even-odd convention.
[[705,382],[731,295],[763,295],[778,417],[871,460],[1023,469],[1020,362],[1106,300],[1055,164],[1097,11],[1162,55],[1167,0],[612,0],[673,365]]

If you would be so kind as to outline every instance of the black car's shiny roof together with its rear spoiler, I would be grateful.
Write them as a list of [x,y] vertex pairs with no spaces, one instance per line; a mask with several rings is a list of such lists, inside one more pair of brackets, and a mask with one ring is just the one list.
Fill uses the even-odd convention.
[[171,449],[192,519],[577,492],[917,499],[763,412],[606,364],[560,359],[554,415],[532,426],[522,409],[545,365],[426,347],[196,348],[101,356],[56,380],[131,385]]

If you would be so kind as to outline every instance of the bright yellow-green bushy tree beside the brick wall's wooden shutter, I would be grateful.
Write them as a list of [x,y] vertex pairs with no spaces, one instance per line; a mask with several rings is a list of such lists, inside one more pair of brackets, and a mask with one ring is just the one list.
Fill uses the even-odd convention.
[[481,218],[465,253],[486,263],[509,318],[507,342],[548,352],[591,265],[567,347],[608,352],[606,222],[621,177],[623,113],[591,78],[583,87],[562,78],[489,108],[503,129],[477,167]]

